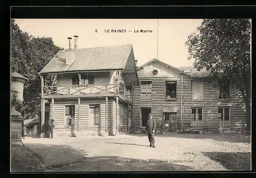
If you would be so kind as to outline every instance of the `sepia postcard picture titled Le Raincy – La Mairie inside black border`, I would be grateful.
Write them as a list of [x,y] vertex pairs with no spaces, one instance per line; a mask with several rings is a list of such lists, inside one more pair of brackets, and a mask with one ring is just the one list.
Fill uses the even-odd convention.
[[251,19],[10,26],[11,172],[251,170]]

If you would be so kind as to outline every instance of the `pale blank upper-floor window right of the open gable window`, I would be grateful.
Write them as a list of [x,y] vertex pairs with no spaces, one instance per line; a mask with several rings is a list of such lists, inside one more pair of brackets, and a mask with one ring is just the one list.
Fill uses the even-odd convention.
[[203,100],[203,88],[204,82],[203,80],[192,80],[192,92],[191,92],[191,100],[192,101],[202,101]]

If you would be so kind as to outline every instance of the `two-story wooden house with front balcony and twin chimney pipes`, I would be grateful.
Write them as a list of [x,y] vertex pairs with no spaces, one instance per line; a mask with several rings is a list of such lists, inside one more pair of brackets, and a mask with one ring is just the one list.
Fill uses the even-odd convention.
[[[60,50],[42,69],[41,123],[46,100],[54,135],[117,135],[131,125],[132,88],[138,85],[132,45]],[[44,76],[55,76],[52,86]],[[42,136],[43,137],[43,136]]]

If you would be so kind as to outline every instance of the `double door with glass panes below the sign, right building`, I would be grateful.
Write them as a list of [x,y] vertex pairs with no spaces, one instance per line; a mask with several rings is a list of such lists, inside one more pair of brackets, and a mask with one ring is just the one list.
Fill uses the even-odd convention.
[[177,132],[177,113],[164,113],[163,132]]

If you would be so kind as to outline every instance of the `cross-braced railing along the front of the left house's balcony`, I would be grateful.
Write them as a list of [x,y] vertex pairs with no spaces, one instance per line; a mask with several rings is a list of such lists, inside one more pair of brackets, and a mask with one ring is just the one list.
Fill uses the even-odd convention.
[[106,85],[71,85],[71,86],[43,86],[44,96],[47,95],[87,95],[118,93],[118,84]]

